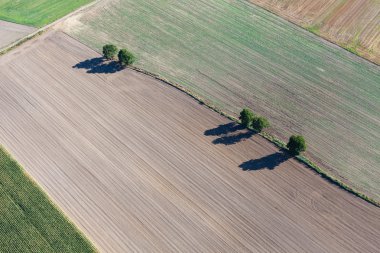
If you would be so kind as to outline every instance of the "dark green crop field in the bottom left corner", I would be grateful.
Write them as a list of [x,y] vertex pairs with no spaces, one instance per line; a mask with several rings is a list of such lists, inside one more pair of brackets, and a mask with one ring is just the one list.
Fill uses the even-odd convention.
[[0,148],[0,252],[95,252]]

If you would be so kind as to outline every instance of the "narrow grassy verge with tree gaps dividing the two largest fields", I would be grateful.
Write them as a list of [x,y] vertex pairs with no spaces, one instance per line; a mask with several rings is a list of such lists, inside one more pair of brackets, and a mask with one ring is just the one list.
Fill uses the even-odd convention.
[[[175,87],[176,89],[182,91],[182,92],[185,92],[187,95],[189,95],[190,97],[192,97],[193,99],[195,99],[196,101],[198,101],[200,104],[208,107],[209,109],[221,114],[222,116],[232,120],[232,121],[235,121],[237,123],[240,123],[239,120],[236,118],[236,117],[233,117],[225,112],[223,112],[222,110],[218,109],[216,106],[212,105],[211,103],[208,103],[206,102],[203,98],[201,98],[200,96],[194,94],[192,91],[190,91],[189,89],[186,89],[185,87],[181,86],[180,84],[177,84],[177,83],[173,83],[173,82],[170,82],[168,81],[167,79],[163,78],[163,77],[160,77],[159,75],[157,74],[153,74],[153,73],[150,73],[146,70],[143,70],[143,69],[140,69],[140,68],[137,68],[137,67],[130,67],[131,69],[135,70],[135,71],[138,71],[140,73],[143,73],[143,74],[146,74],[146,75],[149,75],[157,80],[160,80],[168,85],[171,85],[173,87]],[[269,134],[269,133],[266,133],[266,132],[262,132],[262,133],[259,133],[263,138],[265,138],[266,140],[270,141],[271,143],[273,143],[274,145],[276,145],[278,148],[280,149],[288,149],[286,147],[286,143],[281,141],[280,139],[278,139],[277,137]],[[300,163],[304,164],[306,167],[308,167],[309,169],[312,169],[313,171],[315,171],[316,173],[318,173],[321,177],[323,177],[324,179],[326,179],[327,181],[329,181],[330,183],[338,186],[339,188],[351,193],[351,194],[354,194],[355,196],[367,201],[368,203],[370,204],[373,204],[377,207],[380,207],[380,203],[370,197],[368,197],[367,195],[355,190],[354,188],[348,186],[347,184],[345,184],[344,182],[340,181],[339,179],[335,178],[334,176],[330,175],[328,172],[326,172],[326,170],[322,169],[321,167],[319,167],[318,165],[316,165],[314,162],[312,162],[309,158],[307,158],[306,156],[304,155],[299,155],[299,156],[296,156],[295,159],[297,159],[297,161],[299,161]]]

